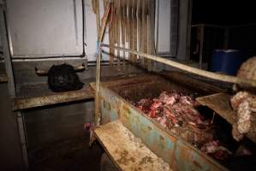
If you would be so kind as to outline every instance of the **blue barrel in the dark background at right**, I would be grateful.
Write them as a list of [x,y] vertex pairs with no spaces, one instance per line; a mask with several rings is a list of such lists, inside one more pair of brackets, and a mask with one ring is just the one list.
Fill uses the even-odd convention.
[[210,71],[236,75],[245,55],[240,50],[214,50],[211,56]]

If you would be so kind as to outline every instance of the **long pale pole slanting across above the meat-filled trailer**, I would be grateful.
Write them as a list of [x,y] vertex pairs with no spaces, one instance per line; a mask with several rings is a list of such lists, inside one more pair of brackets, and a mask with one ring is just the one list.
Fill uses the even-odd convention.
[[103,47],[115,48],[115,49],[118,49],[118,50],[124,50],[124,51],[127,51],[129,53],[132,53],[132,54],[135,54],[135,55],[138,55],[138,56],[143,56],[147,59],[151,59],[151,60],[156,61],[156,62],[161,62],[161,63],[164,63],[164,64],[169,65],[171,67],[179,68],[179,69],[182,69],[183,71],[186,71],[186,72],[189,72],[189,73],[192,73],[192,74],[197,74],[199,76],[203,76],[203,77],[208,78],[208,79],[234,83],[234,84],[241,85],[241,87],[245,87],[245,88],[248,88],[248,87],[256,88],[256,80],[247,80],[247,79],[242,79],[242,78],[235,77],[235,76],[230,76],[230,75],[211,73],[209,71],[201,70],[199,68],[192,68],[192,67],[184,65],[182,63],[171,61],[169,59],[164,59],[162,57],[148,55],[148,54],[142,53],[140,51],[129,50],[129,49],[125,49],[125,48],[121,48],[121,47],[117,47],[117,46],[110,46],[109,44],[101,44],[101,45]]

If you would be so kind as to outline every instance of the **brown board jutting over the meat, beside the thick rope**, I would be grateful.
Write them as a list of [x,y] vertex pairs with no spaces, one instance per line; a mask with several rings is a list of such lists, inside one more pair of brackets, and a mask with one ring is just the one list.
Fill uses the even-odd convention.
[[235,112],[231,109],[229,100],[230,95],[227,93],[217,93],[205,97],[197,97],[196,101],[200,104],[213,109],[218,115],[222,116],[223,119],[228,121],[230,124],[235,122]]

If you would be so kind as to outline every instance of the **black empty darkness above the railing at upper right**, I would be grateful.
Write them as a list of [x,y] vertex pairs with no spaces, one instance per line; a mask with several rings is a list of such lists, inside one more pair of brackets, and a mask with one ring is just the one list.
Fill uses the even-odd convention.
[[256,23],[254,1],[193,0],[192,24],[223,26]]

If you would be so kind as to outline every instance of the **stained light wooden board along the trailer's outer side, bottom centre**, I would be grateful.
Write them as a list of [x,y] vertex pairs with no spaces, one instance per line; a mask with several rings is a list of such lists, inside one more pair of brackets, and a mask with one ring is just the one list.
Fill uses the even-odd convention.
[[136,139],[120,121],[97,127],[94,133],[121,170],[171,170],[168,163],[156,156],[140,139]]

